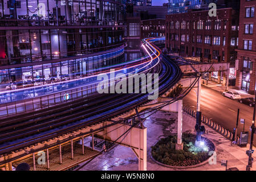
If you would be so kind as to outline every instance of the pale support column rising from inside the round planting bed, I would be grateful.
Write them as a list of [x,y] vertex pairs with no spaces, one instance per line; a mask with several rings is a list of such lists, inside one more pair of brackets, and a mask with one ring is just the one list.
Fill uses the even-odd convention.
[[177,131],[177,143],[176,150],[183,150],[182,143],[182,100],[178,100],[178,131]]

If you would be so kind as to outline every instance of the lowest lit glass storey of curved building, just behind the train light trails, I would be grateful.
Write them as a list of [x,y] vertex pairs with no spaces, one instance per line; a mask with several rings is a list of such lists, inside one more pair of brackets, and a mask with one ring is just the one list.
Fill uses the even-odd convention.
[[123,53],[124,49],[119,49],[99,56],[0,69],[0,92],[91,76],[105,67],[123,63]]

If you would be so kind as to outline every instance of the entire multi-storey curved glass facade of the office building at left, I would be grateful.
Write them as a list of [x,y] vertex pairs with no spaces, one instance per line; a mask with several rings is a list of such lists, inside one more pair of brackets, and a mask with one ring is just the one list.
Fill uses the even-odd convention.
[[0,0],[0,91],[123,63],[124,9],[123,0]]

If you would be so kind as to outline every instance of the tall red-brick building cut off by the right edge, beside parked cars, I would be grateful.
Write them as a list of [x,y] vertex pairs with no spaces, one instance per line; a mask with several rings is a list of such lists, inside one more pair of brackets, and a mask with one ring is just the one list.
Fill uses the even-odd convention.
[[241,0],[237,80],[235,86],[253,94],[256,80],[256,18],[255,0]]

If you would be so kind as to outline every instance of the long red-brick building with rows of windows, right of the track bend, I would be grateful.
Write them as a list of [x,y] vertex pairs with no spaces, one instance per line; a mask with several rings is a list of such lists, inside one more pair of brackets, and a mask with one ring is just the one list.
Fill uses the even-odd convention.
[[[216,17],[209,11],[192,11],[166,16],[166,43],[169,52],[185,57],[230,63],[230,80],[235,78],[235,57],[238,46],[239,12],[232,8],[218,9]],[[212,73],[222,82],[222,73]],[[234,85],[234,84],[233,84]]]

